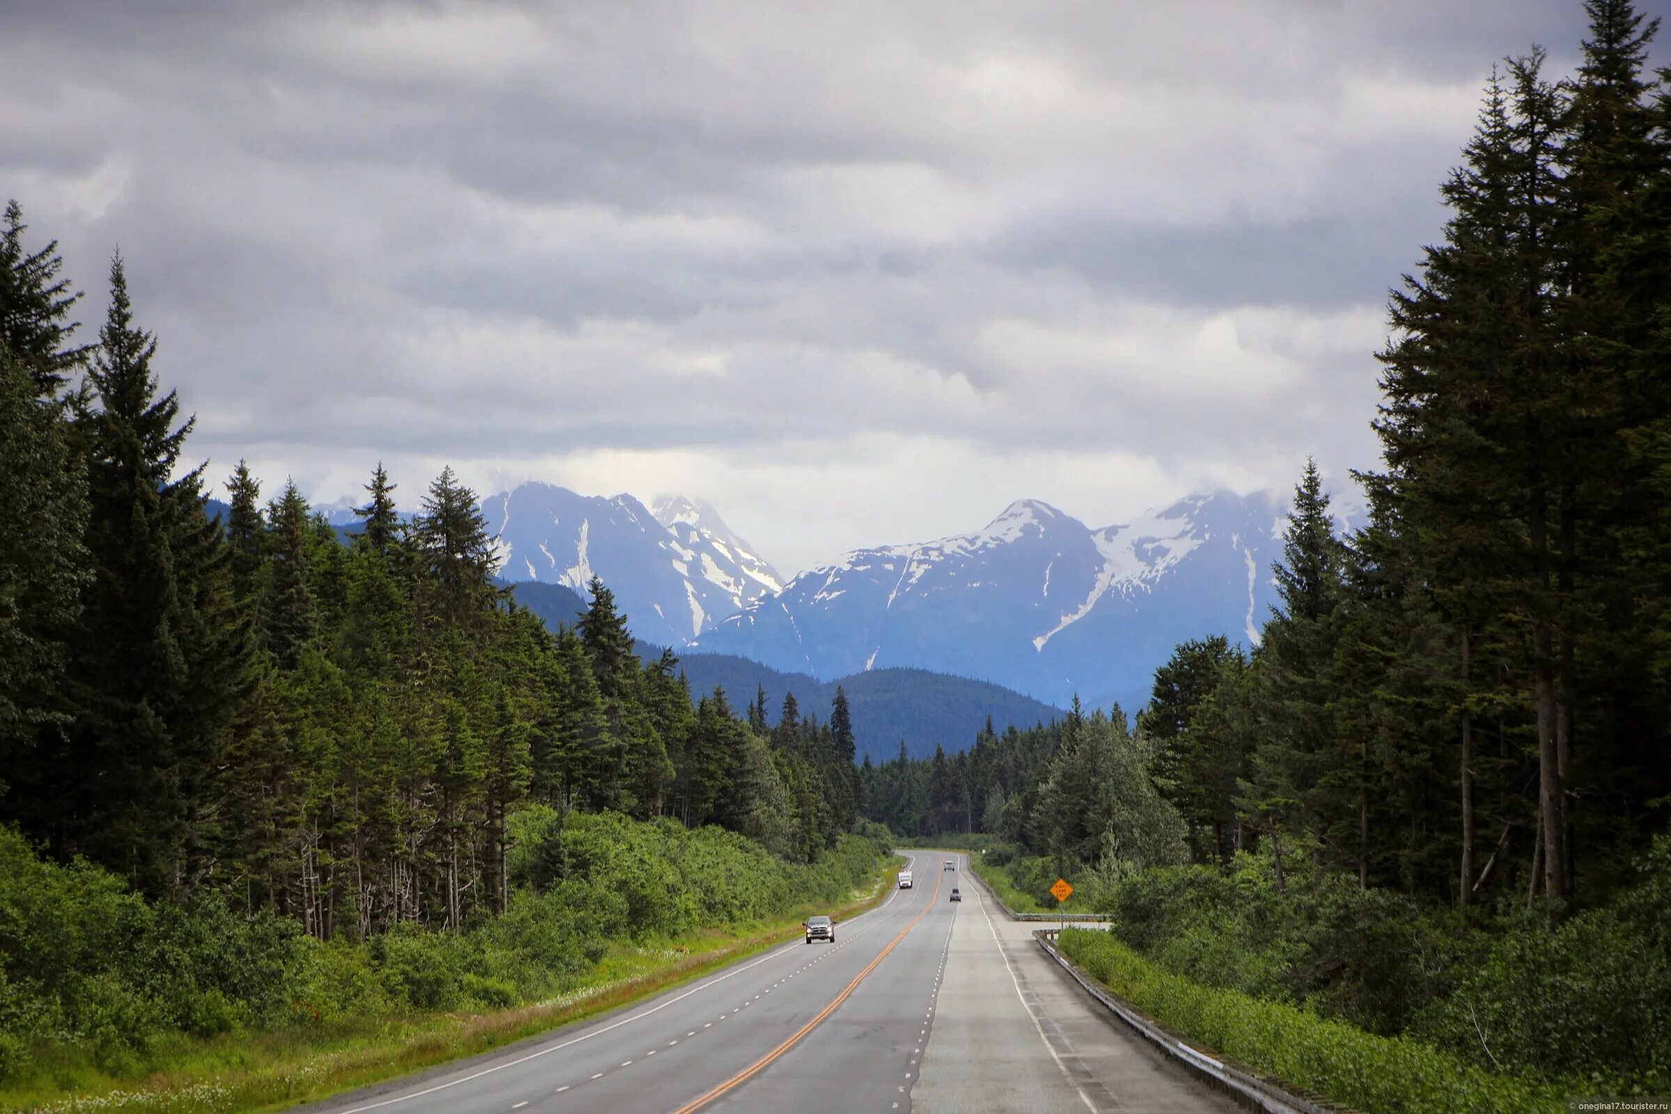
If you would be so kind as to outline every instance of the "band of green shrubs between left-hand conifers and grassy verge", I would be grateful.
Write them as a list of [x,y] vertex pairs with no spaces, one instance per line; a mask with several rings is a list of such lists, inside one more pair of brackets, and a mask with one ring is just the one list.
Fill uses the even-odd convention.
[[404,924],[321,942],[209,894],[147,905],[115,875],[38,857],[0,828],[0,1079],[35,1046],[87,1049],[115,1076],[164,1034],[328,1025],[555,997],[625,937],[745,927],[874,879],[887,830],[790,863],[722,828],[533,807],[511,817],[510,907],[465,932]]

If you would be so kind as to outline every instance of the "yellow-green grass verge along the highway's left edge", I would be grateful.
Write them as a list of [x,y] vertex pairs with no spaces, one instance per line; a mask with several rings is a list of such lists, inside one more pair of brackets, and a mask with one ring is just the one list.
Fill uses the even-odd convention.
[[[899,855],[876,884],[847,900],[804,905],[765,924],[700,929],[677,939],[618,940],[580,985],[530,1005],[488,1012],[348,1019],[336,1024],[211,1039],[170,1036],[149,1052],[149,1074],[100,1067],[87,1049],[58,1047],[37,1056],[25,1086],[0,1087],[0,1111],[38,1114],[242,1114],[316,1102],[630,1005],[720,967],[784,944],[812,914],[846,920],[874,909],[894,889]],[[114,1071],[110,1069],[114,1067]]]

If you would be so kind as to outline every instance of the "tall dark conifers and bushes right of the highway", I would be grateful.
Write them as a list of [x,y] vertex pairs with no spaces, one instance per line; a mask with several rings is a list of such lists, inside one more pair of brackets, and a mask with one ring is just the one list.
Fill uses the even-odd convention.
[[1066,873],[1171,975],[1663,1094],[1671,73],[1656,23],[1586,7],[1571,78],[1537,50],[1491,78],[1392,296],[1369,521],[1338,534],[1305,469],[1258,648],[1178,646],[1135,732],[1076,710],[864,770],[861,800],[989,833],[1043,905]]

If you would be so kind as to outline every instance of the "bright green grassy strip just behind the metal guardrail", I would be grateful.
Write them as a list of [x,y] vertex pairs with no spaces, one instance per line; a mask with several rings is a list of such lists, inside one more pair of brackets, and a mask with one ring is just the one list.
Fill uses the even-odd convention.
[[1283,1002],[1173,975],[1108,932],[1068,929],[1061,950],[1138,1012],[1257,1076],[1370,1114],[1564,1111],[1569,1089],[1464,1064],[1407,1037],[1380,1037]]

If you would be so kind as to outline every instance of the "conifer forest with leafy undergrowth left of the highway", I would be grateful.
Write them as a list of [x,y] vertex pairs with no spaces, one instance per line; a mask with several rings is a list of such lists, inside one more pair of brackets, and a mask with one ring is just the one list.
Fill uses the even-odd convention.
[[[449,469],[401,521],[379,466],[349,544],[294,484],[264,498],[242,463],[212,516],[122,259],[97,344],[79,339],[60,267],[8,205],[0,1077],[30,1047],[90,1041],[120,1064],[155,1032],[282,1020],[304,994],[296,964],[314,962],[297,935],[369,949],[341,962],[383,987],[373,1014],[508,1005],[565,985],[565,964],[597,959],[588,940],[787,914],[874,873],[886,847],[851,835],[842,700],[822,727],[790,703],[770,730],[719,693],[692,703],[672,655],[633,653],[597,580],[578,621],[550,631],[496,585],[476,496]],[[702,825],[725,832],[687,840]],[[583,862],[592,838],[640,847],[618,865],[643,877],[602,882],[615,852]],[[693,872],[730,863],[724,880],[650,868],[685,847]],[[697,885],[719,905],[697,910]],[[63,935],[65,917],[85,934]],[[413,944],[436,934],[471,942]],[[185,984],[124,965],[155,959],[122,954],[147,940],[180,949]],[[434,970],[406,994],[391,987],[413,949]]]

